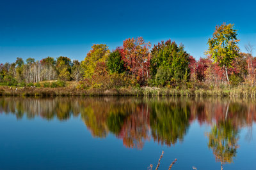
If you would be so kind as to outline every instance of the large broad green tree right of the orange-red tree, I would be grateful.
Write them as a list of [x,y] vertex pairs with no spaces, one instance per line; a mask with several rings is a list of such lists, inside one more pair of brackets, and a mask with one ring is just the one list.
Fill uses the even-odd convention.
[[150,71],[156,85],[167,85],[187,78],[189,73],[189,54],[184,46],[178,46],[170,39],[162,41],[151,51]]

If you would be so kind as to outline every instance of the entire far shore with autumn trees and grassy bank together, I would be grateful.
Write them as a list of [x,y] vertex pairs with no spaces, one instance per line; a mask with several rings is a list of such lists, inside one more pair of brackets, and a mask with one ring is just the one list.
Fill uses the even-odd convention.
[[32,58],[0,64],[0,94],[23,96],[255,96],[253,46],[240,52],[234,24],[216,26],[198,60],[170,39],[151,48],[142,37],[112,52],[95,44],[83,61]]

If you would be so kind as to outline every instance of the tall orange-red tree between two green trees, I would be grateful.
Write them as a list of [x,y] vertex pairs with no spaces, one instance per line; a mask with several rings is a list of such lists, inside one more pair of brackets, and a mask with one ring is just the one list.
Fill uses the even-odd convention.
[[119,51],[124,60],[124,66],[139,83],[143,84],[150,76],[150,43],[142,37],[125,39]]

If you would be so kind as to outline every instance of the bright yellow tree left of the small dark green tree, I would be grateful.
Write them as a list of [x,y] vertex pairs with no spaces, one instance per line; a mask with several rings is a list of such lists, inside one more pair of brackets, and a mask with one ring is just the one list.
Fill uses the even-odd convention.
[[87,53],[85,59],[81,62],[84,78],[92,77],[97,62],[106,62],[109,53],[107,45],[93,45],[92,50]]

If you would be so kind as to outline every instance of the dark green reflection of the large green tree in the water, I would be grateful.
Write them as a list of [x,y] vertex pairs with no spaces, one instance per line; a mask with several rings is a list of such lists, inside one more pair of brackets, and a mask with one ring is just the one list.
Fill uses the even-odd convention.
[[182,141],[189,127],[190,110],[180,101],[154,101],[150,103],[150,127],[152,137],[162,145],[175,145]]

